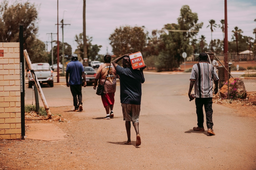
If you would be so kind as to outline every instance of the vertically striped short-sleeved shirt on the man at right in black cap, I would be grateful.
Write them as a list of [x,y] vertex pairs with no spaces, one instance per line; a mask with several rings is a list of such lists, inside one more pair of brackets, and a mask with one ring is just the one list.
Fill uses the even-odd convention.
[[219,77],[214,67],[207,61],[199,61],[193,65],[190,79],[195,81],[195,97],[210,98],[213,96],[213,81],[219,81]]

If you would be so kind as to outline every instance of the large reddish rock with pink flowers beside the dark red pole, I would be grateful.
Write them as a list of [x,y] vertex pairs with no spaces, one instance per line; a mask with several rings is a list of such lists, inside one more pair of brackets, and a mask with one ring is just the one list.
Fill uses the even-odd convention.
[[[227,82],[219,90],[220,96],[222,98],[227,98]],[[229,79],[229,96],[232,99],[241,98],[245,99],[247,94],[244,86],[243,80],[239,78]]]

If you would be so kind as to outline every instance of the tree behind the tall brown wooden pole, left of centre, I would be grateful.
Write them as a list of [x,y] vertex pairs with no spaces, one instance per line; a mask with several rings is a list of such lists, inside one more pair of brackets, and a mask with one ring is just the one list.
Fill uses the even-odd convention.
[[[97,44],[92,45],[91,41],[92,41],[92,37],[87,37],[86,38],[87,43],[86,43],[86,51],[87,51],[87,58],[88,60],[95,60],[96,56],[98,55],[100,48],[102,46],[98,46]],[[83,59],[83,33],[80,33],[79,35],[75,35],[75,41],[77,42],[78,46],[77,46],[77,51],[78,51],[78,55]]]

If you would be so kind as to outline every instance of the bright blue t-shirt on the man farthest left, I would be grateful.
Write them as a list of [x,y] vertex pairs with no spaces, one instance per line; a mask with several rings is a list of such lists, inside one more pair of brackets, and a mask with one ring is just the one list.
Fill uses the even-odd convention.
[[70,61],[67,64],[66,72],[69,72],[69,85],[82,84],[83,64],[80,61]]

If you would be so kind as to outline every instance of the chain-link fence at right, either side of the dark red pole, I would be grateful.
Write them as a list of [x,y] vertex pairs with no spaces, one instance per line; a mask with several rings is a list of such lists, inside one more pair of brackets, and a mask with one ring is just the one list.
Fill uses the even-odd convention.
[[[224,82],[224,55],[215,55],[219,63],[220,84]],[[230,77],[239,78],[244,82],[247,101],[256,102],[256,52],[244,51],[239,54],[228,54]],[[223,76],[222,76],[223,74]]]

